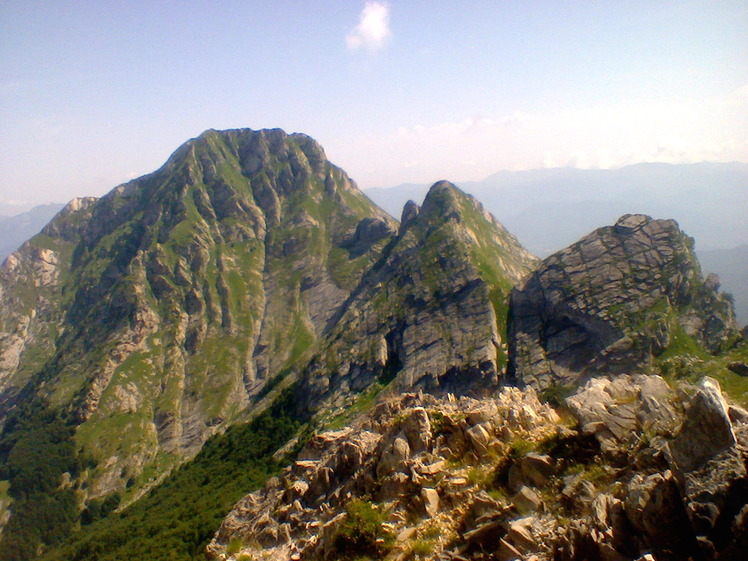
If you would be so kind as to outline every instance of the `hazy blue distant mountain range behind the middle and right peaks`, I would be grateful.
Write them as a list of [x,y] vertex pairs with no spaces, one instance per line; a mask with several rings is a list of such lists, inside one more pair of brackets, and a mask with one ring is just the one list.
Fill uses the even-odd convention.
[[[743,269],[741,276],[729,260],[718,257],[748,244],[748,164],[645,163],[614,170],[501,171],[483,181],[456,184],[482,201],[540,257],[627,213],[674,218],[695,239],[699,256],[723,251],[710,253],[704,269],[720,275],[723,288],[735,296],[739,320],[748,322],[748,275]],[[367,189],[366,194],[397,216],[407,200],[420,201],[427,189],[425,184],[408,183]]]

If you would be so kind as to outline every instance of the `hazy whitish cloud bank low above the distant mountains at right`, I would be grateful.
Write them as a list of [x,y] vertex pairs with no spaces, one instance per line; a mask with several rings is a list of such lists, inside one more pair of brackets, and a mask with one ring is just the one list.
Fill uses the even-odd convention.
[[400,126],[327,151],[362,187],[480,180],[503,169],[748,161],[746,93]]

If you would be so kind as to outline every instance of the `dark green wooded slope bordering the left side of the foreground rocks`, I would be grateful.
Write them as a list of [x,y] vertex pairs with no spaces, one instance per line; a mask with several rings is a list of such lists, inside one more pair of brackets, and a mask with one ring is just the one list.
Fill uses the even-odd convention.
[[275,408],[208,440],[146,497],[83,527],[45,561],[203,561],[231,507],[280,470],[273,453],[299,429]]

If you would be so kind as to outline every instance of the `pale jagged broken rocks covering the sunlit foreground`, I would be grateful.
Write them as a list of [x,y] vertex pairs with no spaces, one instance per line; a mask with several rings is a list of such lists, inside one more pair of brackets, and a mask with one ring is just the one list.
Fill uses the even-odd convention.
[[529,388],[392,398],[309,441],[236,505],[208,555],[347,558],[355,529],[391,560],[743,558],[748,413],[716,382],[597,378],[566,406],[573,428]]

